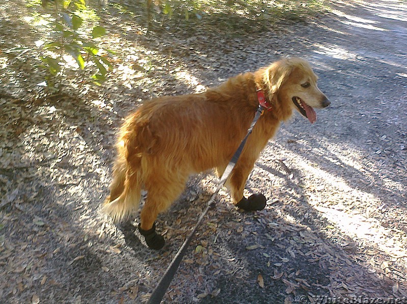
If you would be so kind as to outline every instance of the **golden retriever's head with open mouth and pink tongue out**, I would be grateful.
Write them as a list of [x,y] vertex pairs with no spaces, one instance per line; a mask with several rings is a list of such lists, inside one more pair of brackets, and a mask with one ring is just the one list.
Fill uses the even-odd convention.
[[331,104],[319,90],[318,77],[304,59],[279,60],[266,69],[264,76],[270,100],[282,112],[284,119],[287,114],[290,115],[284,109],[295,108],[313,124],[316,121],[313,108],[325,108]]

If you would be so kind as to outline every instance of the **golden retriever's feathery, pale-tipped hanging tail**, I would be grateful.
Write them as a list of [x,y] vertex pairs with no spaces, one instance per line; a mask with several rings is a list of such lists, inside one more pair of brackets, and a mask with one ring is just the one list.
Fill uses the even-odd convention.
[[138,210],[141,198],[141,157],[127,160],[124,151],[119,151],[119,157],[113,169],[114,179],[108,196],[102,207],[102,212],[111,216],[115,222],[127,218],[134,210]]

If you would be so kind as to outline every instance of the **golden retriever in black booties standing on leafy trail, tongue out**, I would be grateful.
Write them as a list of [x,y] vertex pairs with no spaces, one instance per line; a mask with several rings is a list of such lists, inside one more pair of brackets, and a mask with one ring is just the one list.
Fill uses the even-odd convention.
[[141,191],[147,198],[139,231],[148,247],[161,249],[157,215],[177,199],[191,174],[215,168],[222,175],[259,107],[257,121],[225,186],[237,207],[260,210],[262,194],[243,197],[246,180],[261,150],[293,110],[316,121],[313,108],[330,101],[317,87],[317,76],[300,58],[284,58],[254,73],[230,78],[200,94],[153,99],[130,114],[120,130],[110,196],[102,211],[119,221],[137,211]]

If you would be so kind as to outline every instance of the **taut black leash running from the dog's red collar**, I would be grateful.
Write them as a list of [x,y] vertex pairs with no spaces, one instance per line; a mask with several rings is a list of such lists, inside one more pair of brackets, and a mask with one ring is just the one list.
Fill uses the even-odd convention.
[[201,224],[201,222],[202,222],[203,218],[205,217],[206,213],[208,212],[208,210],[214,206],[216,194],[218,194],[219,190],[221,190],[223,185],[225,185],[226,180],[228,179],[230,173],[232,172],[234,166],[237,163],[237,160],[240,157],[240,154],[243,150],[243,147],[246,144],[246,141],[247,141],[249,135],[252,133],[253,128],[256,125],[257,120],[259,119],[259,117],[263,113],[263,111],[264,111],[264,108],[261,105],[259,105],[259,107],[257,108],[256,114],[254,115],[252,124],[250,125],[250,128],[248,129],[248,133],[246,134],[245,138],[243,138],[243,140],[241,141],[241,143],[240,143],[239,147],[237,148],[235,154],[233,155],[231,161],[226,166],[226,169],[222,174],[218,188],[216,188],[215,192],[212,194],[212,197],[208,201],[208,204],[207,204],[205,210],[202,212],[201,216],[199,217],[198,222],[195,225],[194,229],[192,229],[191,233],[189,233],[188,237],[185,239],[181,248],[178,250],[177,254],[175,255],[174,259],[172,260],[170,266],[168,266],[166,272],[164,273],[164,276],[161,278],[157,287],[155,287],[153,293],[150,296],[150,299],[148,300],[149,304],[159,304],[162,300],[162,297],[164,297],[164,294],[166,293],[168,286],[170,286],[170,283],[175,276],[175,272],[177,271],[178,266],[181,263],[183,256],[185,255],[189,242],[195,236],[195,231],[198,229],[198,226]]

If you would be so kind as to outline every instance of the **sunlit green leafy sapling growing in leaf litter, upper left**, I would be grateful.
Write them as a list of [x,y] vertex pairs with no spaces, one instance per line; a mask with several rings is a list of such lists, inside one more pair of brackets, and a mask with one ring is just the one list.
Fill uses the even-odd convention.
[[[106,56],[92,39],[106,34],[104,27],[97,24],[95,18],[86,20],[88,8],[85,0],[43,0],[42,6],[52,10],[53,20],[48,24],[50,40],[41,46],[43,67],[49,72],[47,85],[53,86],[53,79],[64,74],[64,68],[69,65],[69,54],[76,61],[79,70],[96,67],[97,73],[91,76],[96,84],[105,80],[108,69],[112,67]],[[86,30],[92,28],[87,38]],[[88,35],[89,36],[89,35]]]

